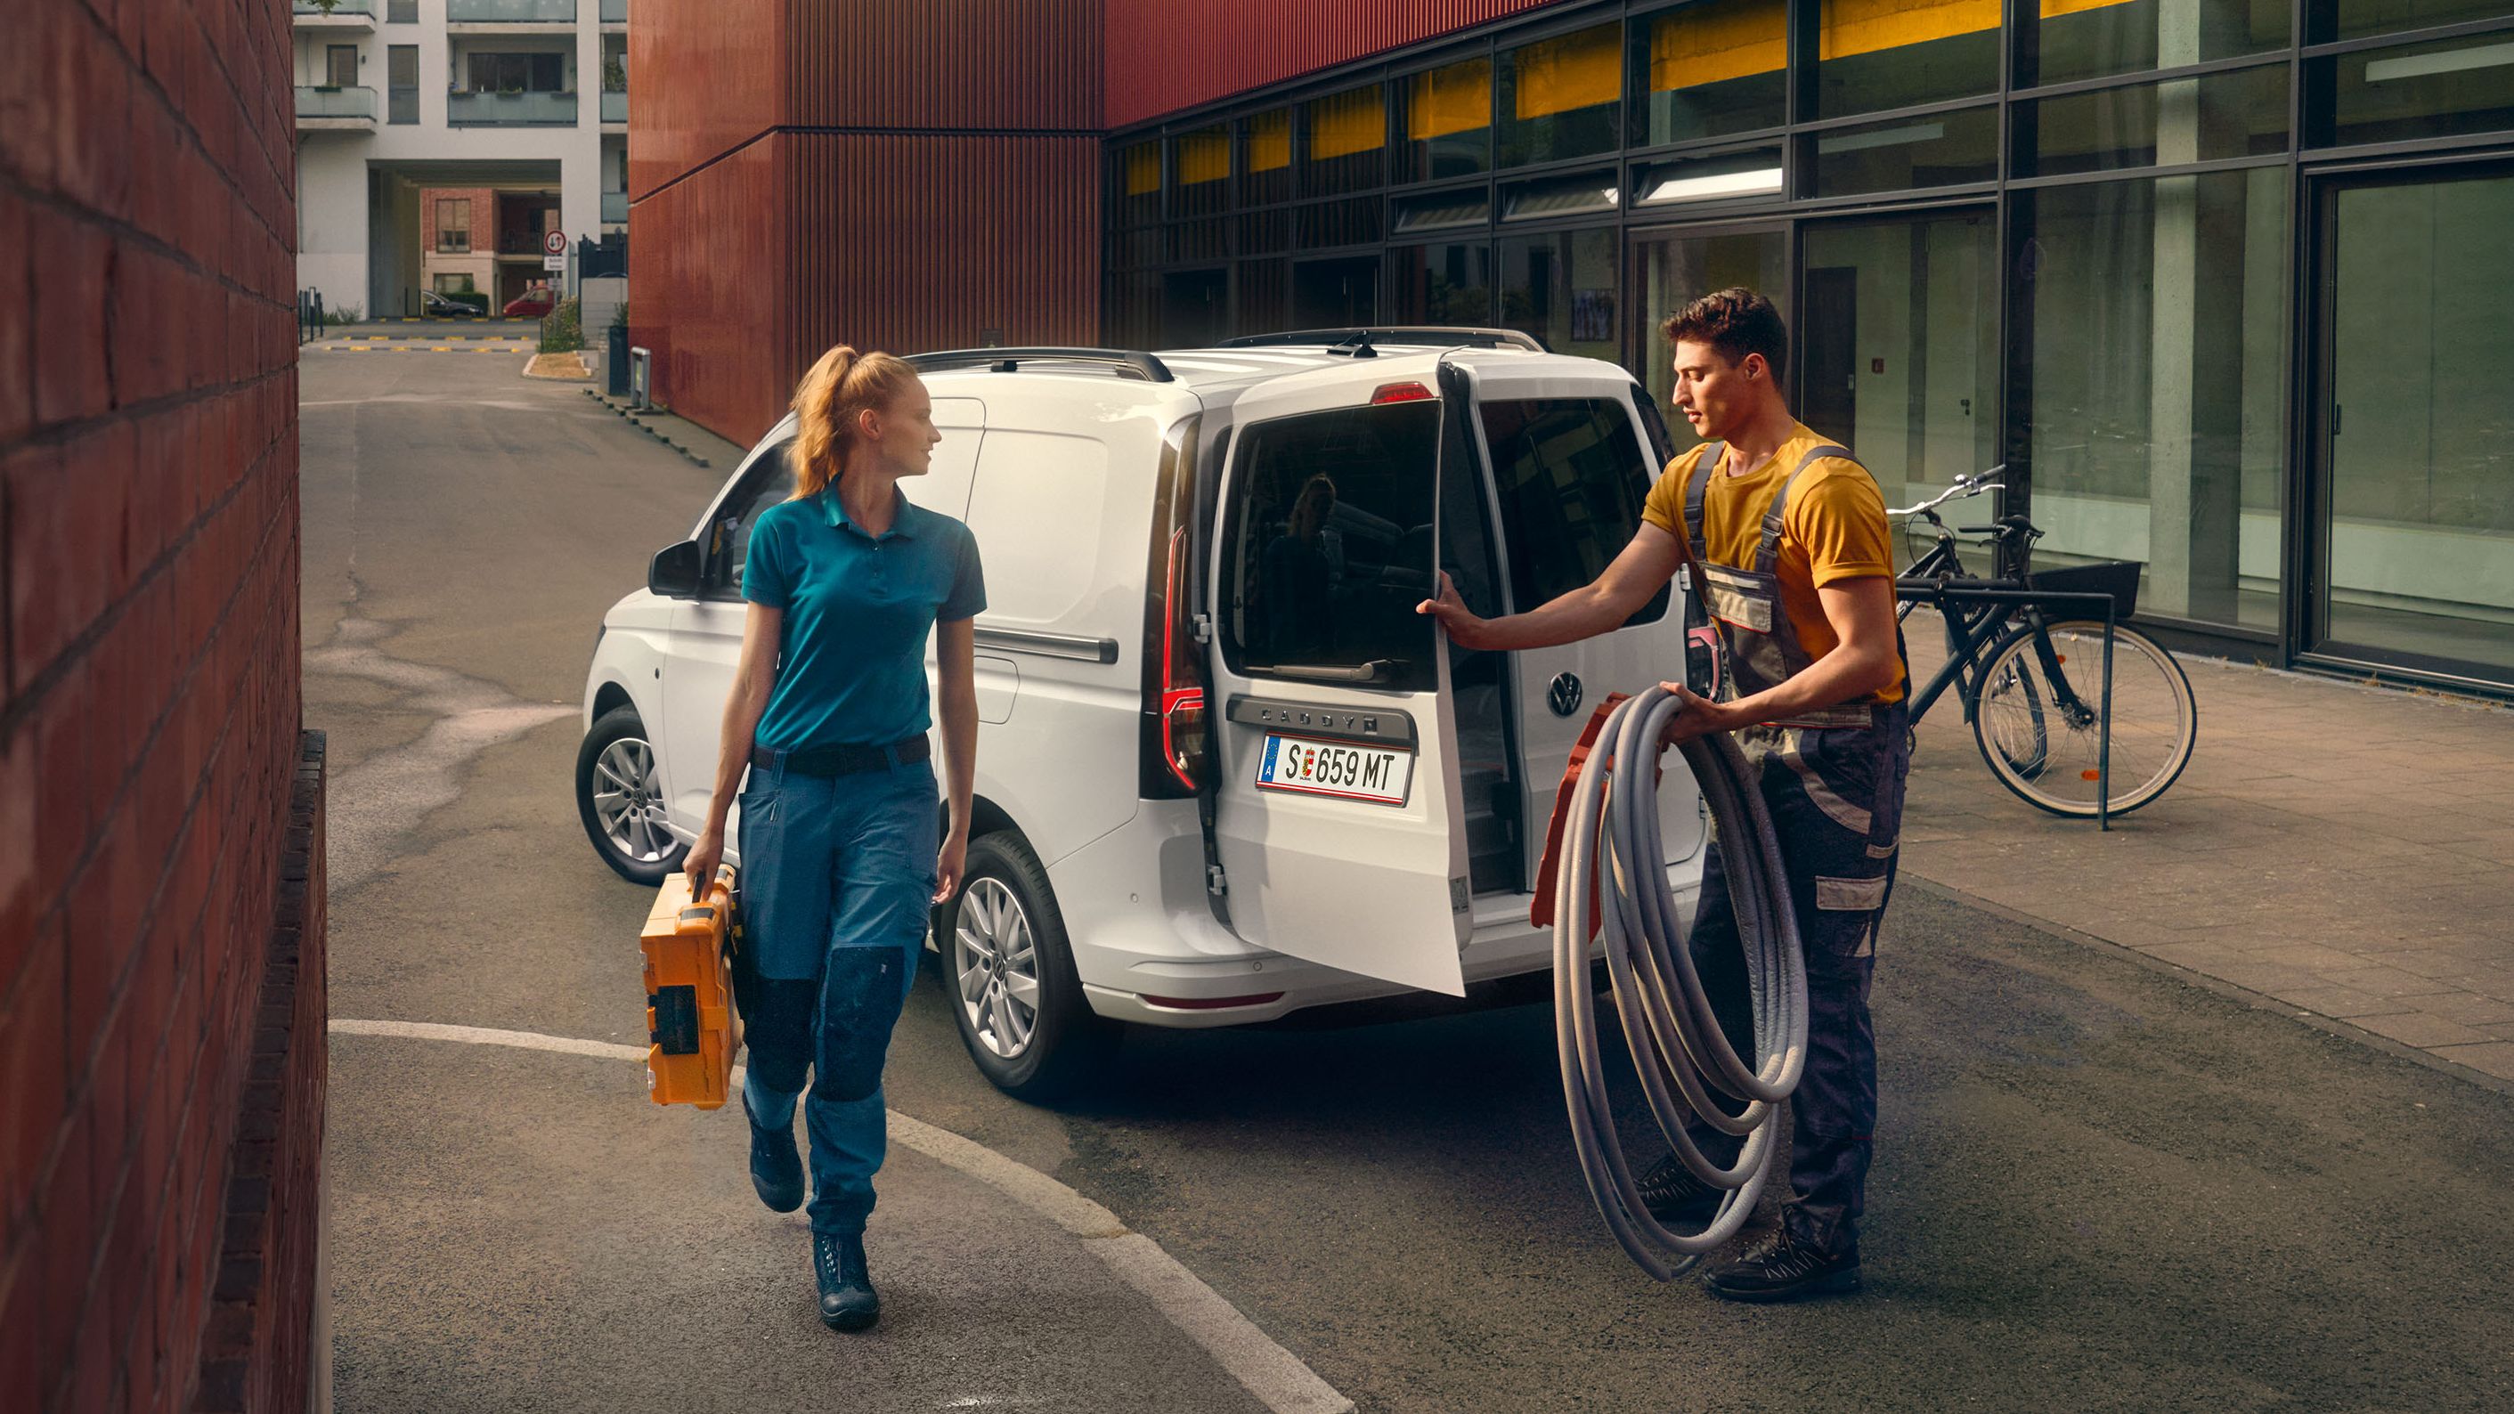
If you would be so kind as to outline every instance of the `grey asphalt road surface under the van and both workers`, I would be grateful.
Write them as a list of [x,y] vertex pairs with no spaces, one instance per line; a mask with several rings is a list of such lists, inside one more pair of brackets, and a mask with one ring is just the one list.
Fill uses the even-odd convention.
[[[646,899],[576,821],[576,698],[724,472],[518,364],[304,364],[332,1012],[639,1042]],[[1868,1291],[1795,1309],[1622,1258],[1541,1007],[1136,1032],[1041,1110],[975,1077],[928,980],[890,1103],[1106,1203],[1363,1409],[2514,1406],[2514,1100],[1921,889],[1875,1015]],[[342,1409],[1252,1406],[918,1155],[877,1261],[968,1231],[877,1268],[892,1316],[845,1344],[729,1113],[581,1057],[332,1065]]]

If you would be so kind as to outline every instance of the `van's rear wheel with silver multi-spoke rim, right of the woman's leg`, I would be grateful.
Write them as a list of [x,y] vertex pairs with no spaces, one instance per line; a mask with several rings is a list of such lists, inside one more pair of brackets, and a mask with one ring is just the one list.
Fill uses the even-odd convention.
[[[960,939],[960,917],[973,909],[973,894],[980,902],[993,902],[985,919],[970,914],[975,949]],[[980,1032],[980,1020],[970,1015],[975,1007],[970,990],[978,990],[980,1000],[985,997],[988,919],[1011,932],[1006,904],[1018,909],[1021,937],[1028,939],[1028,962],[1038,980],[1038,1007],[1013,1055],[1001,1055]],[[1021,834],[1003,829],[968,844],[968,869],[960,892],[943,909],[935,942],[943,952],[938,969],[943,1000],[960,1030],[960,1045],[968,1047],[970,1062],[996,1090],[1016,1100],[1068,1095],[1079,1082],[1094,1077],[1116,1050],[1119,1025],[1094,1015],[1091,1002],[1084,1000],[1081,977],[1073,972],[1073,949],[1066,942],[1066,919],[1048,889],[1048,872]],[[1018,962],[1021,952],[1016,949],[1016,972]],[[960,980],[963,964],[980,964],[968,985]]]

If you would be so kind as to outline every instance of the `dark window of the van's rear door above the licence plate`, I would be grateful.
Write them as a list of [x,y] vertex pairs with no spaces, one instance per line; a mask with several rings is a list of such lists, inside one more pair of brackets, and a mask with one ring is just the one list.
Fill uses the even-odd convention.
[[1435,402],[1242,432],[1222,570],[1237,671],[1430,691],[1430,618],[1415,605],[1430,593],[1438,434]]

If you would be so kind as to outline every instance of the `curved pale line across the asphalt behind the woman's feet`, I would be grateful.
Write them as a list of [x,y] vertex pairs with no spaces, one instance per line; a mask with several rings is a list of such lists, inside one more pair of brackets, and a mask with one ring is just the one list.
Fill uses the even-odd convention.
[[[455,1027],[442,1022],[370,1022],[332,1017],[332,1035],[385,1035],[405,1040],[453,1040],[465,1045],[510,1045],[518,1050],[551,1050],[558,1055],[591,1055],[596,1060],[646,1062],[646,1047],[611,1040],[576,1040],[543,1032],[510,1032],[493,1027]],[[742,1087],[742,1067],[734,1067],[734,1087]],[[1006,1158],[978,1140],[928,1125],[925,1120],[885,1110],[890,1138],[903,1145],[958,1168],[960,1173],[996,1188],[1023,1208],[1081,1238],[1084,1251],[1144,1293],[1151,1309],[1169,1319],[1187,1339],[1204,1346],[1242,1389],[1257,1396],[1275,1414],[1348,1414],[1353,1401],[1317,1376],[1300,1356],[1282,1349],[1237,1306],[1222,1298],[1179,1258],[1161,1251],[1161,1243],[1129,1231],[1109,1208],[1084,1198],[1073,1188],[1038,1173],[1036,1168]]]

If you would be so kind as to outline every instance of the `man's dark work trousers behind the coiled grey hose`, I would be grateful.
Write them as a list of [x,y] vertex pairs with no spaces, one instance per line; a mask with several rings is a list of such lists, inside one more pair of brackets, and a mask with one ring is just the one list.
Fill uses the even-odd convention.
[[[1868,1025],[1878,922],[1893,892],[1911,774],[1908,711],[1875,708],[1870,726],[1737,733],[1790,869],[1790,907],[1808,954],[1808,1070],[1790,1095],[1790,1198],[1782,1221],[1820,1251],[1858,1248],[1868,1155],[1878,1120],[1878,1052]],[[1727,869],[1712,844],[1692,932],[1694,967],[1720,1025],[1752,1055],[1755,1020]],[[1742,1105],[1730,1105],[1730,1113]],[[1692,1123],[1694,1143],[1735,1163],[1737,1143]]]

